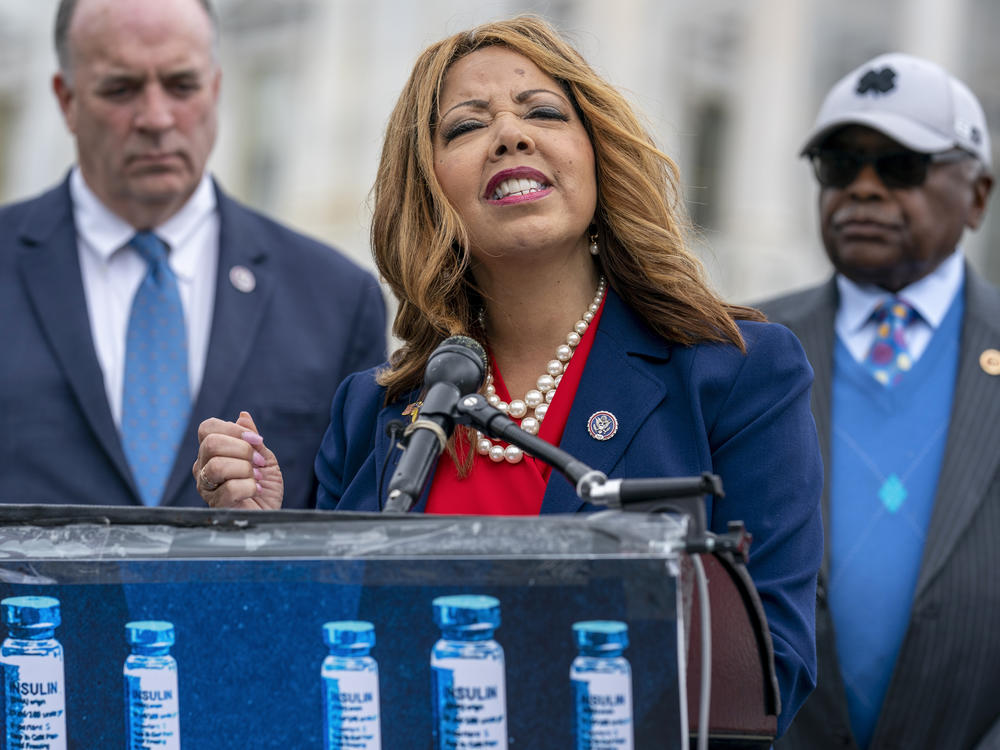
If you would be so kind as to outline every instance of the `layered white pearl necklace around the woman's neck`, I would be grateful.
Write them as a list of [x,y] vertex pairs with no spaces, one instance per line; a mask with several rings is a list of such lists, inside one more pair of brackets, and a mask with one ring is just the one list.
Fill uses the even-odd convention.
[[[576,351],[576,347],[583,338],[583,334],[587,331],[590,322],[594,319],[594,315],[600,309],[606,289],[607,283],[602,276],[597,284],[594,301],[590,303],[587,311],[580,316],[580,320],[576,321],[573,330],[566,334],[566,343],[560,344],[556,348],[555,359],[549,360],[549,363],[545,366],[545,374],[539,376],[535,383],[536,387],[525,393],[524,398],[512,399],[509,404],[501,400],[497,395],[496,387],[493,385],[493,373],[491,372],[486,376],[486,400],[490,403],[490,406],[502,411],[512,419],[520,419],[521,429],[529,435],[538,434],[542,420],[545,418],[545,412],[548,411],[549,404],[555,398],[556,389],[562,381],[563,373],[569,366],[569,360],[572,358],[573,352]],[[500,443],[494,443],[491,438],[478,430],[476,431],[476,450],[482,456],[489,456],[490,460],[495,463],[507,461],[507,463],[516,464],[524,458],[524,451],[516,445],[505,446]]]

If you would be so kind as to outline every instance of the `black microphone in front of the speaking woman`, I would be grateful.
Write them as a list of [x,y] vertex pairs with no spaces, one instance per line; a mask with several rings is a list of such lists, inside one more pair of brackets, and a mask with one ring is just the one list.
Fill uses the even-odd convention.
[[403,432],[403,456],[389,480],[385,511],[406,513],[424,491],[434,463],[455,431],[458,400],[479,390],[486,375],[486,352],[468,336],[442,341],[427,360],[427,393],[417,419]]

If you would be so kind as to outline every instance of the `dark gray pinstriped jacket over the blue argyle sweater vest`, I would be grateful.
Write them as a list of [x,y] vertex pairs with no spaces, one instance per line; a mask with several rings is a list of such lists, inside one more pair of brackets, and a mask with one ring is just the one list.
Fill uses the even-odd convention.
[[[815,370],[812,408],[827,466],[837,297],[831,279],[759,306],[799,337]],[[1000,747],[1000,734],[990,732],[1000,717],[1000,375],[980,366],[986,349],[1000,349],[1000,291],[966,266],[965,318],[944,462],[910,623],[873,750]],[[823,514],[829,517],[829,478]],[[857,748],[837,662],[827,571],[824,556],[816,600],[818,685],[776,744],[779,750]]]

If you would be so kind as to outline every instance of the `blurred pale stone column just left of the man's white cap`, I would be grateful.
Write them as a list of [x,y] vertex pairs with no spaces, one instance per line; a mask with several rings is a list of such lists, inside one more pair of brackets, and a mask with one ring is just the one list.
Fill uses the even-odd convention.
[[814,113],[809,95],[808,3],[747,5],[742,65],[724,155],[722,291],[757,300],[821,278],[815,189],[798,150]]

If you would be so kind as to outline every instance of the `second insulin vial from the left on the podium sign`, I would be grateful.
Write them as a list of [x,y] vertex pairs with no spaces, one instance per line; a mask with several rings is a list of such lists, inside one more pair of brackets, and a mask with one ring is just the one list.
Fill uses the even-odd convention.
[[179,750],[177,661],[170,655],[174,626],[147,620],[125,625],[132,653],[125,659],[125,747]]

